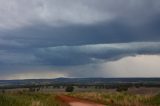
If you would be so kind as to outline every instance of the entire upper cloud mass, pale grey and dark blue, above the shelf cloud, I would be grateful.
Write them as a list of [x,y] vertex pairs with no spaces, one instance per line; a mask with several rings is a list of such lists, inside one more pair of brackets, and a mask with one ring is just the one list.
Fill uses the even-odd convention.
[[6,10],[0,20],[2,48],[160,40],[159,0],[6,0],[2,4],[0,13]]

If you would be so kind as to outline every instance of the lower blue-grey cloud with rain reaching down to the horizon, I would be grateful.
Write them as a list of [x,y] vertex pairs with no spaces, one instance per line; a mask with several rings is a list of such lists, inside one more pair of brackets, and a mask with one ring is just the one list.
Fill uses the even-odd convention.
[[110,77],[114,73],[108,71],[104,74],[101,64],[127,56],[159,54],[160,42],[0,50],[0,72],[1,76],[5,75],[6,78],[7,75],[12,76],[12,73],[21,75],[21,73],[39,72],[39,70],[65,73],[68,77]]

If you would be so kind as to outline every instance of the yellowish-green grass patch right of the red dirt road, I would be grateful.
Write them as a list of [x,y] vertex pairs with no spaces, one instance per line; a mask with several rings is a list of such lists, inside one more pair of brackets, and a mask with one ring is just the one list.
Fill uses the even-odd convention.
[[107,106],[160,106],[160,94],[138,95],[125,92],[75,92],[68,95],[96,101]]

